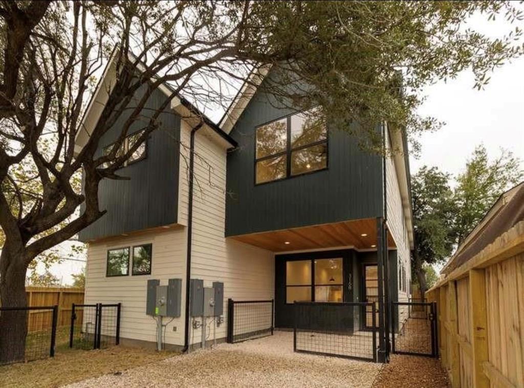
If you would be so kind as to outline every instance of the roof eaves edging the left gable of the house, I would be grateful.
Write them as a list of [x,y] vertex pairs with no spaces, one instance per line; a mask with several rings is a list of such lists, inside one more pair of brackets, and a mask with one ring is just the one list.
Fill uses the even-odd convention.
[[[113,81],[116,78],[116,58],[117,51],[114,50],[112,52],[110,60],[106,64],[106,67],[104,69],[104,72],[102,73],[102,76],[98,84],[96,85],[94,93],[91,95],[89,104],[82,115],[82,120],[80,122],[80,130],[77,132],[75,137],[75,152],[79,152],[81,145],[85,144],[88,141],[94,126],[100,119],[103,106],[109,98],[109,94],[114,85]],[[129,60],[136,60],[136,57],[132,53],[129,53]],[[144,67],[145,66],[143,63],[138,62],[139,70],[143,70]],[[158,89],[168,97],[171,96],[171,94],[173,94],[174,91],[171,85],[169,85],[169,83],[167,82],[162,82]],[[219,125],[215,124],[208,116],[203,114],[191,102],[189,102],[187,99],[183,98],[180,94],[178,94],[177,96],[171,99],[170,108],[180,114],[185,113],[182,112],[182,107],[185,108],[185,110],[187,110],[187,112],[191,116],[193,116],[194,118],[198,118],[199,120],[203,121],[204,125],[211,128],[212,132],[215,133],[217,140],[221,143],[225,143],[226,148],[231,149],[237,146],[237,142],[235,141],[235,139],[233,139],[231,136],[225,133]]]

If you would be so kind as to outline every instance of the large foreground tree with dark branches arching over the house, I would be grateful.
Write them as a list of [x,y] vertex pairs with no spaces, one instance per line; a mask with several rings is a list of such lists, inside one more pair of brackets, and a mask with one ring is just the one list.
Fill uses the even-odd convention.
[[[464,28],[474,13],[522,17],[509,1],[0,2],[2,305],[25,306],[34,258],[103,217],[100,181],[123,178],[118,168],[160,126],[174,96],[202,108],[227,105],[224,91],[250,70],[271,66],[280,76],[264,88],[280,104],[318,105],[330,120],[357,121],[363,145],[379,148],[374,127],[381,120],[411,132],[434,127],[432,118],[415,114],[423,85],[472,68],[480,87],[489,71],[521,55],[518,28],[508,27],[501,39],[484,36]],[[101,118],[75,149],[92,86],[112,53],[116,78]],[[171,95],[143,114],[165,82]],[[101,137],[124,111],[112,152],[97,157]],[[119,152],[136,121],[142,135]],[[29,193],[15,175],[28,159],[38,186]],[[83,192],[73,182],[81,170]],[[0,361],[24,355],[25,314],[11,317],[0,317]]]

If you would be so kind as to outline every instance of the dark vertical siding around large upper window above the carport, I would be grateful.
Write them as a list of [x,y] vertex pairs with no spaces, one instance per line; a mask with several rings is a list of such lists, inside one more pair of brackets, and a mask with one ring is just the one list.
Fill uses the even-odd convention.
[[226,235],[380,216],[381,157],[337,128],[329,128],[328,169],[255,186],[255,127],[291,113],[271,100],[257,92],[231,132],[238,148],[227,157]]

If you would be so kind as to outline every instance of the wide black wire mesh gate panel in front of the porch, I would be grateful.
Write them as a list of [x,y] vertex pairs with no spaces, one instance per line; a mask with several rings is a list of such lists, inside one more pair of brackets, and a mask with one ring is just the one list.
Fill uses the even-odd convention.
[[375,313],[374,303],[295,302],[294,351],[377,361]]

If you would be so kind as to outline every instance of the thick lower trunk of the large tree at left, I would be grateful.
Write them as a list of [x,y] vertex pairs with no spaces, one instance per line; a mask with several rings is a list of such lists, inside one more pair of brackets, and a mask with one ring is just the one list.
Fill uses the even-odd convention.
[[[2,307],[26,307],[26,271],[21,257],[4,245],[0,256]],[[27,335],[27,310],[0,312],[0,364],[23,361]]]

